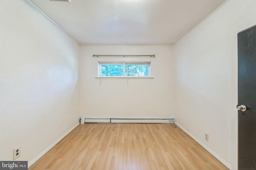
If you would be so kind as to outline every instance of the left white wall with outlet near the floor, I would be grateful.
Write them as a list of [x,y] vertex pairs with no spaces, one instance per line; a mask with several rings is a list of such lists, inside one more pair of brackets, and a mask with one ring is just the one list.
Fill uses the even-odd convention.
[[79,121],[79,46],[22,0],[0,1],[0,160],[30,162]]

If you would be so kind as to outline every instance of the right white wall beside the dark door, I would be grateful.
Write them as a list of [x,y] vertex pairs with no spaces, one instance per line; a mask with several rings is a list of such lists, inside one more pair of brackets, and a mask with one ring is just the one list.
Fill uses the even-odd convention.
[[176,121],[232,170],[237,169],[237,33],[256,24],[255,6],[255,0],[230,0],[175,44]]

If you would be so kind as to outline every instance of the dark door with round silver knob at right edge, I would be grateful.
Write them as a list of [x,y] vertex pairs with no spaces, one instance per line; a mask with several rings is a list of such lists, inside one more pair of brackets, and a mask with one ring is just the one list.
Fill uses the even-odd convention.
[[256,170],[256,26],[238,33],[237,109],[238,169]]

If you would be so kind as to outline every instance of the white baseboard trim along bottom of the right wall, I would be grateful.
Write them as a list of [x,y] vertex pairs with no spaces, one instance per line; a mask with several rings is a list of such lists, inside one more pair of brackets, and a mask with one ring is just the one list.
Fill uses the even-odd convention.
[[175,124],[180,127],[184,132],[186,132],[190,137],[192,137],[199,145],[201,145],[204,149],[206,149],[212,156],[214,156],[216,159],[218,159],[222,164],[224,164],[228,169],[231,169],[231,165],[228,164],[224,159],[222,159],[218,154],[216,154],[214,151],[212,151],[209,147],[204,145],[201,141],[199,141],[194,135],[192,135],[189,131],[187,131],[184,127],[182,127],[179,123],[175,122]]

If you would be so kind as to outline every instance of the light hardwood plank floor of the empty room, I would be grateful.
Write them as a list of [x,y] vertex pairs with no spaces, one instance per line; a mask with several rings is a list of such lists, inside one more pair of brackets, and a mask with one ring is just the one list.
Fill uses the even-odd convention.
[[179,127],[79,125],[29,170],[228,170]]

